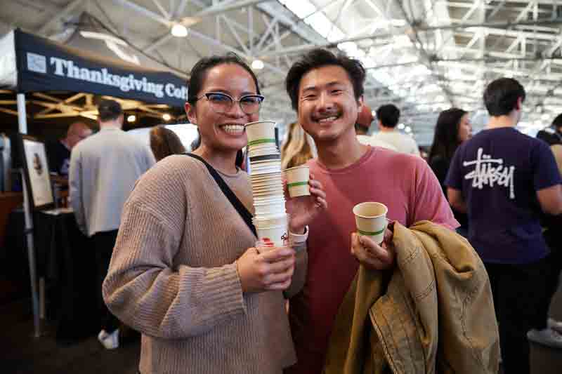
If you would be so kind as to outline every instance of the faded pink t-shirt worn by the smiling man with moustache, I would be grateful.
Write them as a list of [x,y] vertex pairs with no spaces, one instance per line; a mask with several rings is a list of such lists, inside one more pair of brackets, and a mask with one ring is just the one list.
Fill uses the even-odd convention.
[[351,255],[356,231],[353,206],[378,201],[387,218],[406,227],[430,220],[450,229],[459,226],[436,176],[418,156],[369,147],[353,165],[328,170],[308,162],[324,186],[328,209],[310,226],[306,284],[290,301],[289,320],[297,363],[285,373],[321,373],[329,335],[339,305],[353,281],[358,262]]

